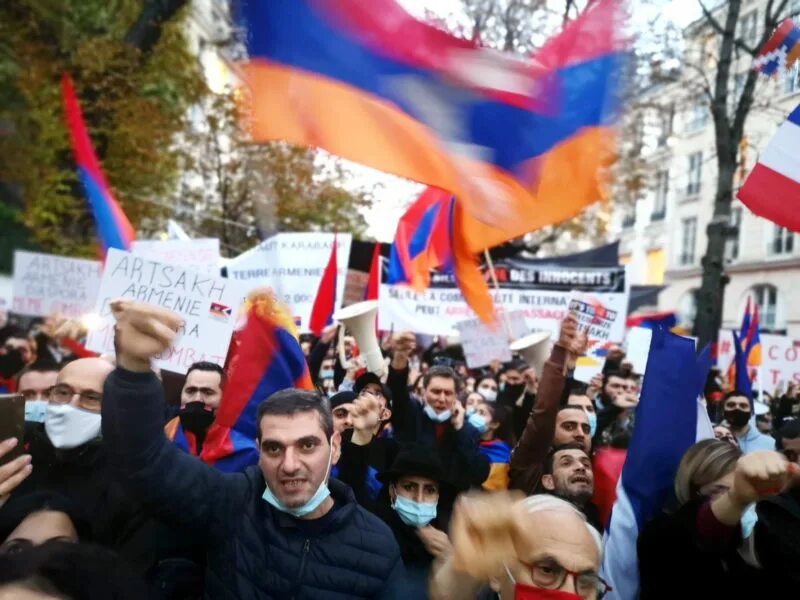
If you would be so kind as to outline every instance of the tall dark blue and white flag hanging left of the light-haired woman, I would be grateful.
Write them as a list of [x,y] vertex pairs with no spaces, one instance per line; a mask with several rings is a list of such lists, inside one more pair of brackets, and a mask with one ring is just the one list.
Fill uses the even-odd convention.
[[714,435],[698,399],[710,364],[708,347],[695,356],[693,340],[653,330],[636,427],[606,530],[602,575],[613,588],[607,599],[638,598],[639,531],[670,498],[686,450]]

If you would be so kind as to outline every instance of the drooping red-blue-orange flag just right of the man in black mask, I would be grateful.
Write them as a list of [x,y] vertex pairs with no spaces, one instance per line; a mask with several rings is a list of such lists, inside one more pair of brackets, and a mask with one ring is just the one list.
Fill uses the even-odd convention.
[[256,464],[256,409],[261,401],[286,388],[313,389],[293,330],[291,316],[270,295],[251,300],[245,325],[234,334],[228,353],[227,383],[203,443],[203,461],[227,472]]

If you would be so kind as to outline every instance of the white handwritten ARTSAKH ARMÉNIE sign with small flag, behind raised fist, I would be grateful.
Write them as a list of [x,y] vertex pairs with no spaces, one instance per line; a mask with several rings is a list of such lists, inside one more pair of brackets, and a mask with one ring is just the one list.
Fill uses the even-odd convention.
[[230,280],[111,248],[95,305],[98,323],[92,326],[86,343],[89,350],[114,353],[114,316],[109,303],[116,298],[160,306],[183,318],[175,343],[153,362],[161,369],[186,373],[200,360],[224,365],[244,294]]

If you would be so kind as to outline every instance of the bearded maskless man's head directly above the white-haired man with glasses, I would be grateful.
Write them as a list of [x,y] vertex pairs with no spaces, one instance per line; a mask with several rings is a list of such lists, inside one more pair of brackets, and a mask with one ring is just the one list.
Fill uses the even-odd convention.
[[573,504],[594,527],[599,527],[597,508],[592,504],[594,473],[592,460],[581,444],[556,446],[544,464],[540,483],[543,493],[552,494]]

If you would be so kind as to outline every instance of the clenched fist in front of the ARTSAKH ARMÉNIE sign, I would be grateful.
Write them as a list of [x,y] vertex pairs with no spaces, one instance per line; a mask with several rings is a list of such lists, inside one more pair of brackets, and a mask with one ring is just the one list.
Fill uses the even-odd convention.
[[149,371],[150,359],[170,347],[182,324],[171,311],[129,299],[111,302],[111,312],[117,320],[117,364],[129,371]]

